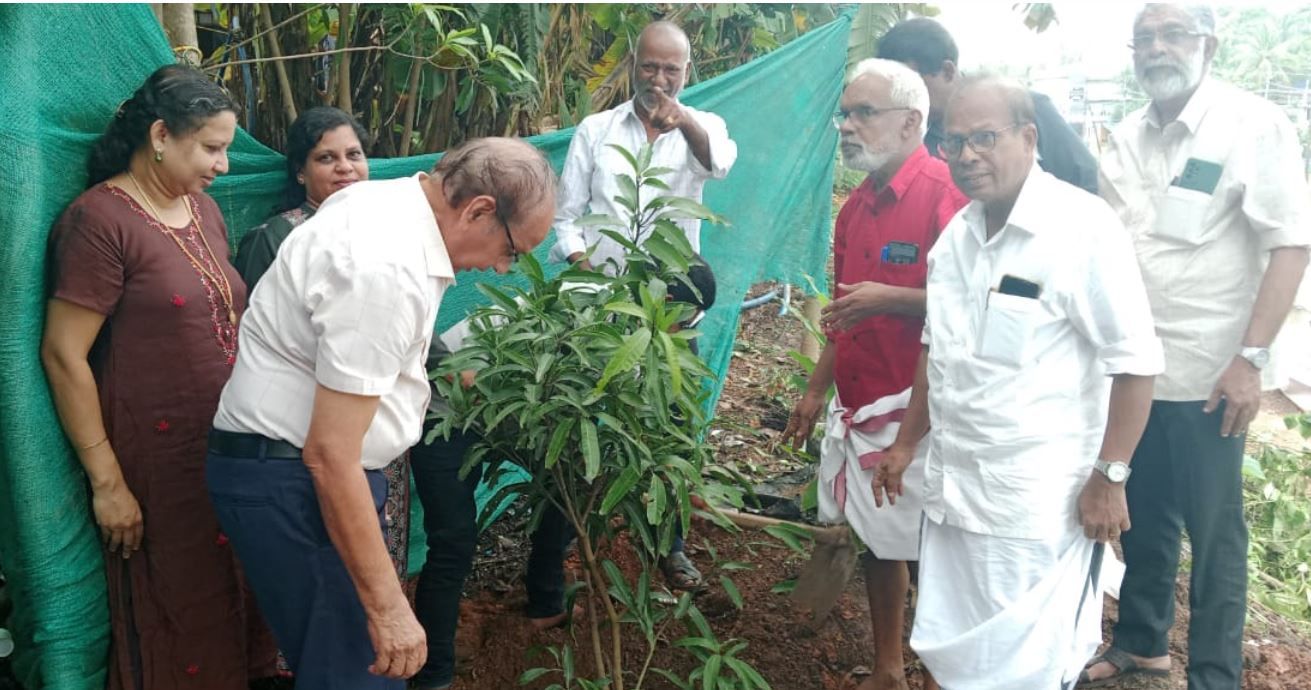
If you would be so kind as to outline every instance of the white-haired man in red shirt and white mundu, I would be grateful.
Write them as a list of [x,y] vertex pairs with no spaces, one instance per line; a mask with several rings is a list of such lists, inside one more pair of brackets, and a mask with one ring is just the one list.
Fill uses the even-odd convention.
[[838,214],[839,296],[823,310],[829,344],[783,438],[794,446],[810,438],[836,384],[821,451],[819,513],[825,521],[850,522],[869,547],[864,567],[874,673],[860,690],[897,690],[907,687],[902,630],[906,563],[919,560],[919,481],[907,477],[906,495],[882,508],[874,505],[869,481],[910,399],[928,251],[968,199],[947,164],[922,143],[928,91],[914,71],[891,60],[863,60],[848,77],[840,108],[834,125],[842,132],[843,163],[869,176]]

